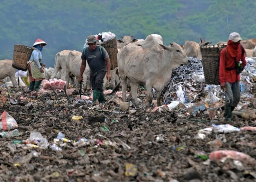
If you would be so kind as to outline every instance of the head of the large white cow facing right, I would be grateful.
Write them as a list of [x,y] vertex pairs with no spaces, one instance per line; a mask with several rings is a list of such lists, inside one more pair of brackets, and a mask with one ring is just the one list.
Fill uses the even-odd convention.
[[174,64],[174,67],[188,63],[188,58],[179,44],[173,42],[170,43],[169,46],[162,44],[159,45],[167,51],[167,55],[171,58],[171,61],[173,61],[173,63],[176,63]]

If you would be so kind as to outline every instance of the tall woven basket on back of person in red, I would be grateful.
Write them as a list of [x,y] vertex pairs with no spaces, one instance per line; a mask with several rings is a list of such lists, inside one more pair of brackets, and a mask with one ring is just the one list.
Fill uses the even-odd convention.
[[219,85],[219,53],[227,44],[201,47],[205,84]]

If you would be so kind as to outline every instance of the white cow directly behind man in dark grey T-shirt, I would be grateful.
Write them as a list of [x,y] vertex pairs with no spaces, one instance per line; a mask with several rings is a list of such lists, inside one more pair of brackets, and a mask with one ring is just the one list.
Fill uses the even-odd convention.
[[[81,55],[82,53],[79,51],[70,51],[69,55],[68,55],[68,61],[66,61],[66,88],[68,88],[69,85],[69,78],[70,78],[70,73],[72,73],[77,80],[76,86],[77,88],[79,88],[79,81],[78,81],[78,77],[79,77],[79,72],[80,72],[80,67],[82,64],[82,59],[81,59]],[[90,69],[89,66],[87,64],[86,61],[86,68],[85,71],[83,73],[83,79],[84,79],[84,90],[86,90],[88,84],[89,84],[89,79],[90,78]]]

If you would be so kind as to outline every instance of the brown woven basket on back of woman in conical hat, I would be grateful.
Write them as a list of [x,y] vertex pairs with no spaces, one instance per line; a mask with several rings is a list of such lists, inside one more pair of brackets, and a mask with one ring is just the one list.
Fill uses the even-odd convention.
[[33,48],[30,48],[26,45],[15,44],[14,50],[13,50],[12,67],[22,71],[27,71],[28,69],[27,62],[30,59],[32,51],[33,51]]

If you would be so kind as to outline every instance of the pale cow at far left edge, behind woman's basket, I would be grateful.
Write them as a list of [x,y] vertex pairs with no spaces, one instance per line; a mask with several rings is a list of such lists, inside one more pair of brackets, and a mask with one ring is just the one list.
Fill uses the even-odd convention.
[[12,67],[12,60],[0,60],[0,79],[4,79],[7,76],[10,77],[13,87],[18,87],[15,79],[15,69]]

